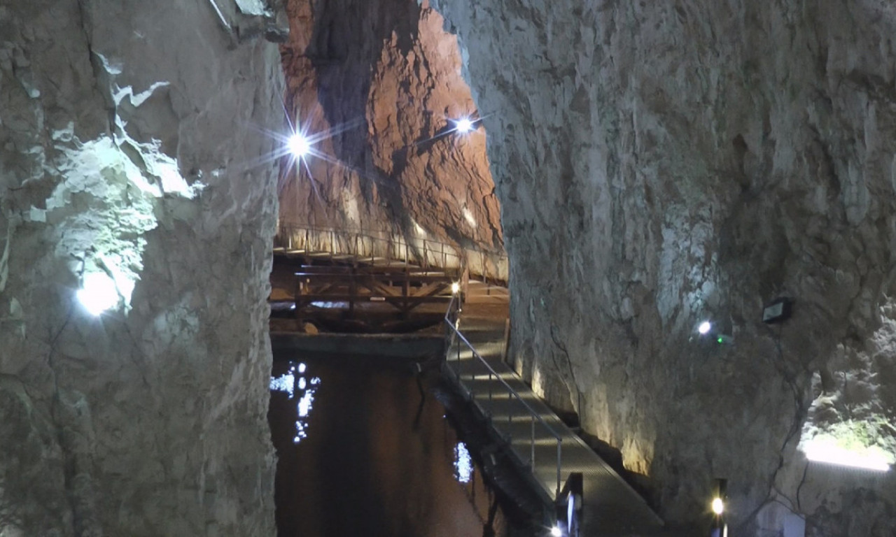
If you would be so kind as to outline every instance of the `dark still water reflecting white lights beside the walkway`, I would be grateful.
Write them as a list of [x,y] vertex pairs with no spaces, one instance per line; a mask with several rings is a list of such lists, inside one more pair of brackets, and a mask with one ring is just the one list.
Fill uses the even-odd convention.
[[287,358],[275,359],[268,415],[279,537],[505,534],[495,495],[408,362]]

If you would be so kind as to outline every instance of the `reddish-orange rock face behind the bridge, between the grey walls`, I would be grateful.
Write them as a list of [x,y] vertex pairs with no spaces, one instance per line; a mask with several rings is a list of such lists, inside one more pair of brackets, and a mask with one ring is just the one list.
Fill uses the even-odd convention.
[[442,16],[413,0],[287,9],[285,106],[314,144],[283,166],[280,221],[503,249],[486,132]]

